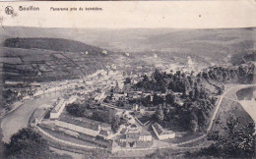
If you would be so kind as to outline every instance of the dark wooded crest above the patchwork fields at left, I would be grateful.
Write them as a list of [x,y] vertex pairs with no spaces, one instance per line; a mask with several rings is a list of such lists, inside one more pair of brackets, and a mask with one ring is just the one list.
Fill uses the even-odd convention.
[[8,38],[4,46],[14,48],[37,48],[63,52],[88,52],[102,54],[103,49],[79,41],[63,38]]

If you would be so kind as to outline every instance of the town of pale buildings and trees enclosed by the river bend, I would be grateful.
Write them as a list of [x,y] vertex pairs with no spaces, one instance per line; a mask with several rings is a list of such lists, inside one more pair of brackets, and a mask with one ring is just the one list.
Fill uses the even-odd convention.
[[[208,74],[210,70],[216,70],[219,67],[224,69],[224,66],[212,67],[202,73],[200,72],[198,75],[201,76],[197,77],[202,77],[204,74]],[[251,66],[243,65],[242,67],[248,67],[246,72],[250,72]],[[238,71],[238,69],[235,67],[234,71],[231,69],[231,72]],[[196,81],[198,78],[190,75],[191,73],[185,75],[179,71],[174,75],[166,75],[169,78],[171,76],[188,78],[190,80],[188,83],[194,85],[185,85],[180,90],[172,87],[160,90],[158,88],[150,89],[151,86],[149,85],[147,87],[142,86],[152,79],[160,78],[162,74],[158,70],[152,73],[151,78],[148,77],[149,74],[148,76],[125,77],[118,71],[106,72],[101,70],[87,79],[63,81],[55,87],[47,85],[51,88],[41,86],[33,95],[61,89],[67,91],[53,105],[37,108],[33,112],[31,126],[54,137],[63,134],[62,139],[80,140],[74,141],[74,144],[79,145],[83,140],[83,144],[87,146],[105,148],[110,152],[125,148],[145,149],[156,145],[159,147],[172,146],[176,144],[173,141],[186,136],[188,130],[179,126],[169,127],[163,118],[169,118],[168,120],[172,121],[171,115],[168,115],[169,112],[175,112],[179,108],[186,107],[188,98],[195,101],[197,98],[202,98],[204,102],[208,103],[208,106],[210,104],[214,108],[217,96],[224,89],[223,85],[214,83],[212,85],[216,88],[215,96],[209,96],[207,88],[202,85],[203,81],[198,82]],[[164,78],[162,77],[162,79]],[[182,85],[182,83],[180,84]],[[199,89],[197,85],[201,88]],[[206,112],[211,114],[212,108]],[[204,116],[208,118],[209,115]],[[182,125],[182,123],[174,121],[170,124]],[[201,125],[202,123],[204,121],[201,121]],[[196,126],[192,131],[204,132],[207,123],[205,126],[201,125]]]

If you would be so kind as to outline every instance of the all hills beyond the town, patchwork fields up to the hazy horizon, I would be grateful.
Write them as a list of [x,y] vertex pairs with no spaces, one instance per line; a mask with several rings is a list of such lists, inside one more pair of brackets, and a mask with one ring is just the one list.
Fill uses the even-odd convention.
[[[21,73],[19,68],[24,67],[28,74],[41,72],[45,79],[61,79],[62,75],[66,78],[74,78],[73,74],[80,77],[112,63],[122,65],[122,70],[127,70],[126,65],[130,66],[130,70],[146,65],[186,65],[187,57],[191,58],[198,70],[214,64],[240,64],[243,63],[241,57],[244,54],[255,50],[255,37],[255,28],[2,27],[0,46],[7,47],[0,48],[0,68],[5,68],[7,74],[1,78],[21,77],[25,74]],[[105,55],[102,54],[101,48],[129,53],[130,56],[125,57],[111,52]],[[20,54],[21,52],[23,53]],[[10,64],[15,64],[15,67]],[[26,66],[23,66],[25,64]],[[34,73],[31,70],[34,70]],[[69,76],[70,74],[72,75]]]

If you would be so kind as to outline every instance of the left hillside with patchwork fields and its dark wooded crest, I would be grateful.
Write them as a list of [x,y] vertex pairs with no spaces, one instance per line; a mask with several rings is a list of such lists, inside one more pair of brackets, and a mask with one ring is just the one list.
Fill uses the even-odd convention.
[[60,38],[9,38],[0,48],[1,80],[77,79],[105,69],[115,56],[82,42]]

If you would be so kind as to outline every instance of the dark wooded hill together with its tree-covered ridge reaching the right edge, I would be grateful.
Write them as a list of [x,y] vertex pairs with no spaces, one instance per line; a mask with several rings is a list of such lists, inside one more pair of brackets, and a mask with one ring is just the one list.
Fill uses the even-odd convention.
[[[218,94],[205,87],[206,83],[253,83],[255,67],[252,64],[242,64],[232,67],[210,67],[198,75],[165,73],[156,70],[151,77],[146,75],[137,84],[136,90],[155,92],[153,101],[149,97],[139,99],[144,106],[157,106],[156,120],[163,127],[182,128],[183,131],[203,132],[211,117],[217,98],[223,93],[224,86],[214,84]],[[165,93],[165,96],[156,92]]]

